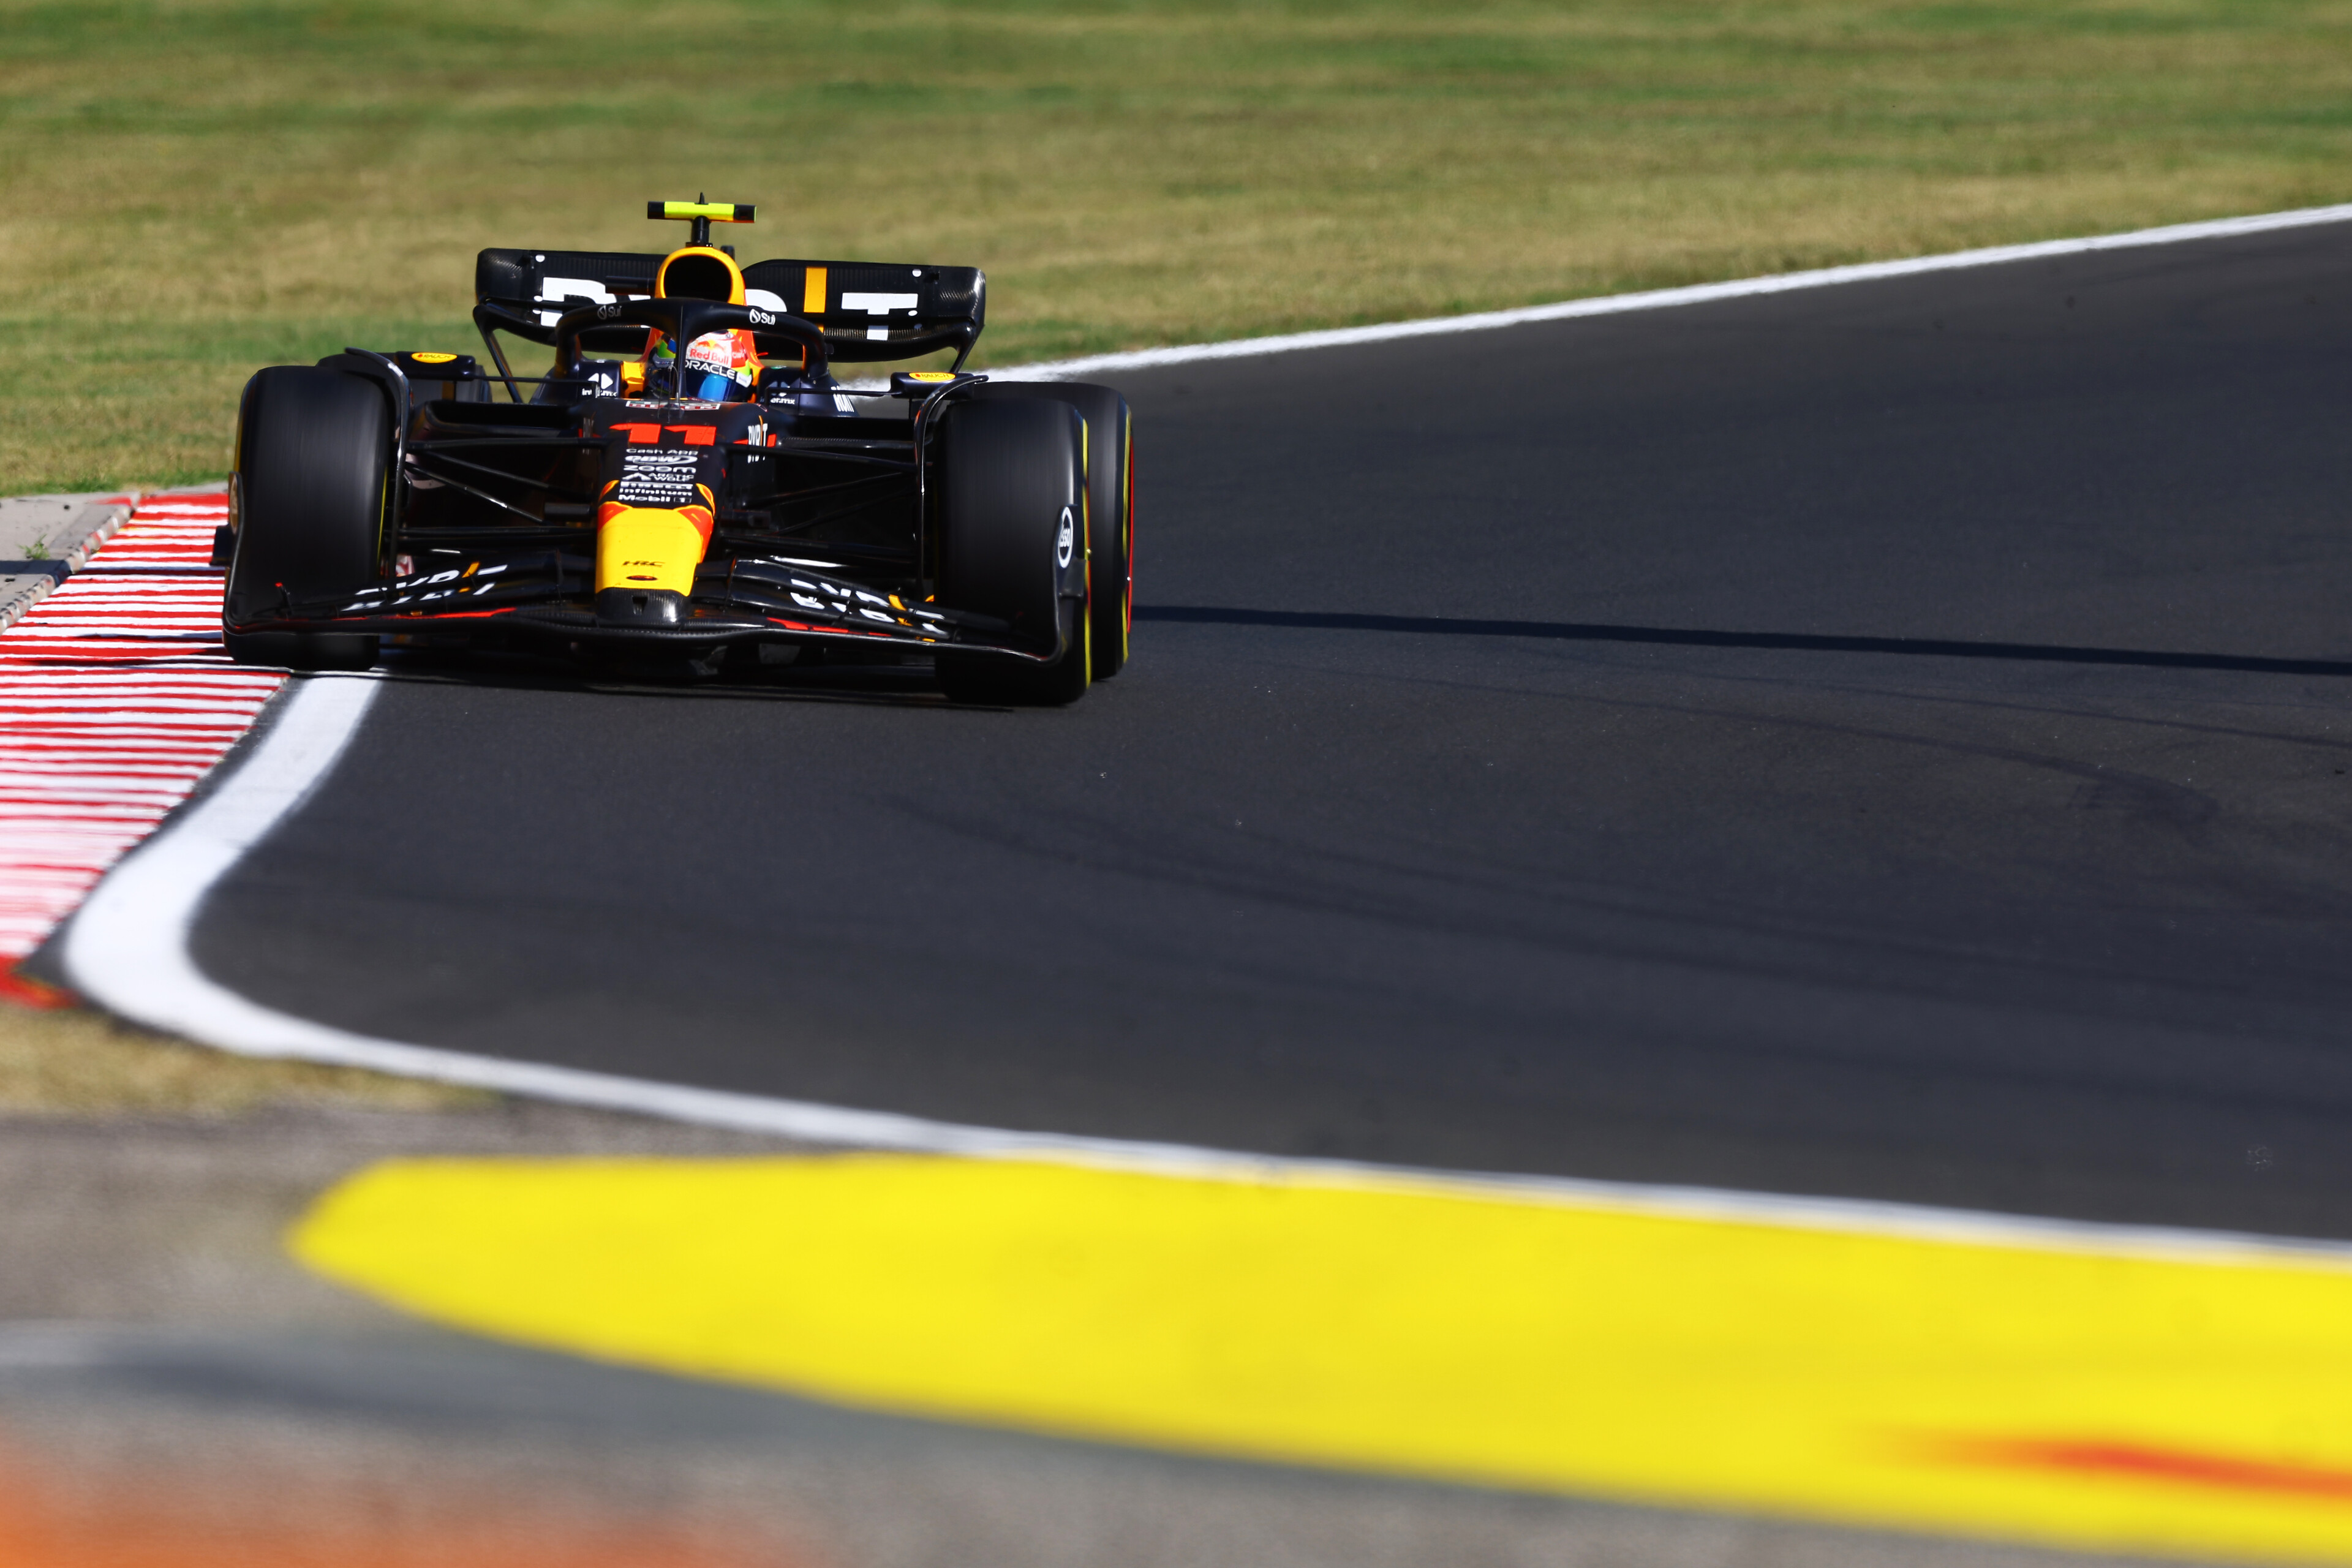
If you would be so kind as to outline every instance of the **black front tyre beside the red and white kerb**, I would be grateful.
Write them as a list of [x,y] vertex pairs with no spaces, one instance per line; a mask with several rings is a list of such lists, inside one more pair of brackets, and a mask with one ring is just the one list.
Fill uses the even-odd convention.
[[238,552],[221,602],[238,663],[365,670],[376,639],[355,632],[240,632],[282,604],[376,581],[393,421],[383,393],[343,371],[278,364],[238,411]]

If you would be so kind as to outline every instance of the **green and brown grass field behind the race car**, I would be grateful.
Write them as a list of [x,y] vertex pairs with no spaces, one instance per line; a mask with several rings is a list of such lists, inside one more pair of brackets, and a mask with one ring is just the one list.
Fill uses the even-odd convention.
[[0,494],[647,197],[978,263],[1002,364],[2352,200],[2347,89],[2317,0],[0,0]]

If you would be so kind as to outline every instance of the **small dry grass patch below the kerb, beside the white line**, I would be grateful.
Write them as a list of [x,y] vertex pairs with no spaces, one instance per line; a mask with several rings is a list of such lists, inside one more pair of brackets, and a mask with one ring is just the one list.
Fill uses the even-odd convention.
[[0,1004],[0,1114],[230,1117],[273,1105],[480,1110],[496,1095],[355,1067],[228,1056],[85,1009]]

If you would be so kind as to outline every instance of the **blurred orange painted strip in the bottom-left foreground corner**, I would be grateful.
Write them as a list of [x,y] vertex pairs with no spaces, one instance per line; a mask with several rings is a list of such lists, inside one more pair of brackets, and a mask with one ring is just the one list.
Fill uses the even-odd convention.
[[[270,1467],[263,1467],[270,1469]],[[731,1547],[673,1523],[614,1519],[546,1500],[376,1488],[158,1481],[113,1483],[0,1455],[5,1568],[804,1568],[774,1542]]]

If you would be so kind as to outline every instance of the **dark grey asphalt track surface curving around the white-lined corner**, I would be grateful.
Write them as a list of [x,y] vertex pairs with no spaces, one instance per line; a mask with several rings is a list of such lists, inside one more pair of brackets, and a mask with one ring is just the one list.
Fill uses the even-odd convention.
[[950,1121],[2352,1237],[2352,228],[1117,381],[1077,708],[400,663],[198,961]]

